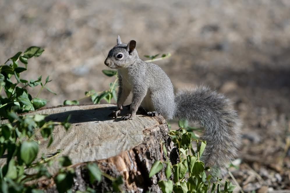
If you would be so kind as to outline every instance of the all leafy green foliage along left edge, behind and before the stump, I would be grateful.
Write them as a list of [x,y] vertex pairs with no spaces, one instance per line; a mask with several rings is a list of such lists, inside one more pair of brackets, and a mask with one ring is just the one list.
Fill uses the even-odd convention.
[[[64,122],[54,122],[45,121],[45,115],[17,115],[45,106],[47,100],[38,98],[38,95],[44,88],[52,92],[46,86],[51,81],[49,76],[44,83],[41,76],[30,81],[21,78],[21,73],[27,69],[28,59],[40,56],[43,51],[40,47],[29,47],[0,66],[0,92],[3,89],[6,94],[6,96],[1,94],[0,97],[0,116],[2,119],[8,119],[0,123],[0,156],[6,153],[7,157],[6,164],[0,168],[0,192],[43,192],[37,190],[36,185],[27,185],[27,182],[42,176],[52,177],[47,166],[52,165],[53,158],[60,151],[57,150],[51,157],[42,156],[37,159],[40,141],[35,140],[35,135],[39,132],[44,140],[49,140],[48,146],[50,146],[53,142],[52,131],[55,125],[62,125],[66,130],[70,127],[69,117]],[[24,67],[20,67],[19,60]],[[41,86],[40,90],[36,97],[32,97],[26,88],[35,88],[38,85]],[[61,169],[56,177],[56,184],[61,178],[59,175],[68,172],[71,175],[66,175],[63,179],[66,179],[66,183],[72,181],[71,176],[74,172]],[[66,188],[68,185],[61,184]],[[60,185],[57,184],[57,187],[59,188]]]

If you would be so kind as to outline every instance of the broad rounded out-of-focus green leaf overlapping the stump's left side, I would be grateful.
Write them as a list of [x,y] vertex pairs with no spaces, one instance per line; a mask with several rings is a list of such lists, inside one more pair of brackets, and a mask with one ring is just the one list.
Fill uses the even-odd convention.
[[26,165],[30,165],[38,153],[38,143],[35,141],[24,141],[20,148],[20,157]]

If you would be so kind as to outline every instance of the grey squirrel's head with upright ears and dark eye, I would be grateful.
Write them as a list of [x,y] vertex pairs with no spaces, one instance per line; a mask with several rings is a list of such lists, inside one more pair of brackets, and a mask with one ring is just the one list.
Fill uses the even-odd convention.
[[131,40],[128,44],[123,44],[118,35],[117,45],[109,51],[105,65],[112,69],[127,68],[132,65],[139,58],[135,47],[135,40]]

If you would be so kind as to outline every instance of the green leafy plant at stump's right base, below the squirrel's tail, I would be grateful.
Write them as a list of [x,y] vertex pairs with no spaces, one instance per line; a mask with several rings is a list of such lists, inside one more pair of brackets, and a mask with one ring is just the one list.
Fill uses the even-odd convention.
[[[167,160],[157,160],[152,165],[149,177],[152,177],[161,171],[164,165],[166,165],[165,176],[167,180],[161,180],[158,182],[159,187],[164,193],[206,193],[209,190],[211,190],[211,193],[215,191],[218,193],[232,192],[235,186],[231,185],[231,182],[228,180],[225,181],[224,190],[220,190],[220,184],[218,183],[222,180],[220,178],[218,178],[217,181],[211,185],[211,176],[206,175],[206,171],[210,168],[205,167],[204,163],[199,159],[206,147],[206,141],[200,141],[192,138],[192,134],[183,128],[184,126],[187,126],[185,121],[179,121],[179,126],[181,128],[175,131],[171,130],[169,132],[169,136],[172,137],[174,145],[178,148],[180,162],[171,166],[171,163],[167,157],[166,147],[164,144],[161,144]],[[192,142],[196,142],[197,144],[196,152],[192,148]],[[170,179],[171,174],[173,174],[173,181]]]

